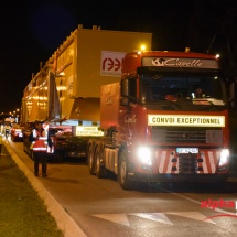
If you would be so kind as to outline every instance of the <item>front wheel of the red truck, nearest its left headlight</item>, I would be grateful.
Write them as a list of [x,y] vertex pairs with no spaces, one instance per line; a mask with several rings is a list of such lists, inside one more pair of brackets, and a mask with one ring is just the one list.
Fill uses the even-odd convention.
[[131,190],[132,181],[128,172],[128,154],[123,150],[119,155],[118,183],[123,190]]

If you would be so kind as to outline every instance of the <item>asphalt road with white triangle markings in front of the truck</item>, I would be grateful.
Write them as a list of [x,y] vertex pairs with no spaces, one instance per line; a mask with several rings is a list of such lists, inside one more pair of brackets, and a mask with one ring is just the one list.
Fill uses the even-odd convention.
[[[33,174],[21,142],[8,141]],[[237,179],[215,184],[141,185],[123,191],[115,177],[90,175],[85,161],[49,163],[37,179],[87,237],[236,236]]]

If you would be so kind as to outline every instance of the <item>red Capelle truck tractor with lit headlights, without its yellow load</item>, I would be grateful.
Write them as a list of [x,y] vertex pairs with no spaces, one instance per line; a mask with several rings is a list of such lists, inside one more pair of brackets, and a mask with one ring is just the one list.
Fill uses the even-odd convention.
[[143,181],[223,182],[229,170],[227,108],[215,55],[128,53],[120,82],[101,86],[104,136],[89,140],[89,172],[112,172],[125,190]]

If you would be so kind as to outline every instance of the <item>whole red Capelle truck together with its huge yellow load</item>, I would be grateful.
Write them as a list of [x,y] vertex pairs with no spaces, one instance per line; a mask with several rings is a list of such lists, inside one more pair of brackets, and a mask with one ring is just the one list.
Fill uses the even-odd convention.
[[71,149],[53,134],[49,154],[85,152],[91,174],[114,173],[126,190],[143,181],[225,181],[229,125],[218,58],[152,52],[151,36],[79,25],[32,76],[21,120],[71,133]]

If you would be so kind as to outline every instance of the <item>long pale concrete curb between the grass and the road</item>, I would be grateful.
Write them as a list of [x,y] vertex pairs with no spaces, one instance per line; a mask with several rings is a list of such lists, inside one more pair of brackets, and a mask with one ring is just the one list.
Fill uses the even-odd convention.
[[11,149],[10,144],[2,141],[8,152],[18,164],[19,169],[28,177],[33,188],[37,192],[39,196],[44,201],[49,213],[55,218],[57,227],[64,233],[65,237],[86,237],[85,233],[79,228],[76,222],[66,213],[60,203],[51,195],[44,185],[36,179],[28,166],[19,159],[19,157]]

